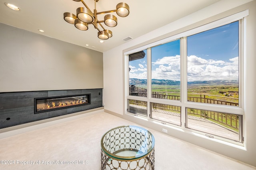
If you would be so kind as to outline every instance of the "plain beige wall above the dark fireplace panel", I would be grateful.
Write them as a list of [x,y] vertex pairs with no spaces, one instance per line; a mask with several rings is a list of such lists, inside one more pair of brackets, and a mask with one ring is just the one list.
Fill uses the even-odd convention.
[[101,89],[102,56],[0,23],[0,92]]

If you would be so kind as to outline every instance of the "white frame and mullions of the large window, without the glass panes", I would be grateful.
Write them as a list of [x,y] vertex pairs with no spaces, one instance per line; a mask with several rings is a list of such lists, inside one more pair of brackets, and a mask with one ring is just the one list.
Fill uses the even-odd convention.
[[[222,18],[220,20],[216,20],[214,22],[210,22],[208,24],[199,26],[197,28],[194,28],[192,30],[188,30],[186,32],[182,32],[180,34],[176,34],[174,36],[170,36],[168,38],[164,38],[162,40],[149,43],[147,45],[138,47],[136,49],[132,49],[130,51],[124,52],[124,72],[125,72],[125,114],[131,115],[131,116],[136,116],[140,119],[144,119],[146,121],[151,121],[153,123],[161,123],[155,119],[150,119],[150,103],[162,103],[166,105],[174,105],[174,106],[180,106],[181,107],[181,127],[175,126],[175,125],[168,125],[170,128],[175,128],[182,130],[183,132],[189,133],[189,134],[194,134],[196,136],[201,136],[205,137],[205,132],[199,132],[197,130],[192,130],[188,129],[185,127],[186,123],[186,108],[196,108],[196,109],[203,109],[203,110],[211,110],[211,111],[217,111],[217,112],[224,112],[224,113],[231,113],[231,114],[237,114],[237,115],[242,115],[243,116],[243,122],[242,126],[245,127],[245,119],[244,119],[244,94],[245,94],[245,71],[244,71],[244,60],[245,60],[245,26],[246,26],[246,16],[249,15],[249,11],[245,10],[236,14],[233,14],[231,16],[227,16],[225,18]],[[226,105],[210,105],[210,104],[205,104],[205,103],[196,103],[196,102],[189,102],[187,101],[187,51],[186,51],[186,37],[198,34],[200,32],[204,32],[206,30],[210,30],[213,28],[217,28],[226,24],[230,24],[232,22],[239,21],[239,107],[234,107],[234,106],[226,106]],[[151,47],[154,47],[156,45],[160,45],[163,43],[171,42],[174,40],[180,39],[180,59],[181,59],[181,64],[180,64],[180,101],[173,101],[173,100],[166,100],[166,99],[155,99],[151,97]],[[147,85],[147,97],[138,97],[138,96],[129,96],[129,54],[136,53],[138,51],[142,51],[144,49],[147,49],[147,79],[148,79],[148,85]],[[148,103],[147,105],[147,117],[140,117],[138,115],[134,115],[132,113],[127,112],[128,108],[128,99],[134,99],[134,100],[140,100],[140,101],[146,101]],[[244,128],[242,128],[243,131],[241,132],[243,134],[243,137],[246,138],[246,133],[244,132]],[[213,135],[214,136],[214,135]],[[209,140],[215,140],[217,142],[224,142],[226,144],[235,144],[238,146],[245,146],[245,142],[237,142],[237,141],[232,141],[230,139],[222,138],[219,136],[214,136],[214,138],[209,138]],[[233,145],[232,145],[233,146]]]

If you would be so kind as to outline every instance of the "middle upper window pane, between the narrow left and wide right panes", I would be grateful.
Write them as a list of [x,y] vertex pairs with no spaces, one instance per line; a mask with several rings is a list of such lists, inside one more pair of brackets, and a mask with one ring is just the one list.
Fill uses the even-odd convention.
[[180,39],[151,48],[152,97],[180,100]]

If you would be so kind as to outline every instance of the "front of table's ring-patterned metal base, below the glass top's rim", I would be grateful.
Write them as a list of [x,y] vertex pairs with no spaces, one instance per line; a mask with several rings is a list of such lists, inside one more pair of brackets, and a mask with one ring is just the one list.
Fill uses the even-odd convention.
[[121,161],[109,158],[101,150],[101,170],[154,170],[154,149],[144,158],[133,161]]

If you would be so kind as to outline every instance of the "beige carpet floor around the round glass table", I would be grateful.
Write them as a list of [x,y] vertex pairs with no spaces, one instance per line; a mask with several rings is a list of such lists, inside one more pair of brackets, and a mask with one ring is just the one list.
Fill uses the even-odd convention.
[[[105,132],[121,125],[136,124],[102,112],[3,138],[0,140],[0,160],[5,161],[1,161],[0,169],[100,170],[100,139]],[[256,169],[155,130],[148,130],[156,140],[155,170]],[[73,161],[74,164],[51,164],[55,161]]]

